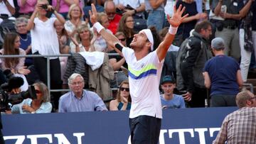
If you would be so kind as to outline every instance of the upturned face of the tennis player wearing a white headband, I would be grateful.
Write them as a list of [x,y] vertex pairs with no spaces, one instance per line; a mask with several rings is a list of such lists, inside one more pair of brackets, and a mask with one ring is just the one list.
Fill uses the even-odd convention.
[[134,35],[132,39],[132,43],[130,43],[131,48],[140,48],[142,49],[146,43],[150,43],[148,38],[146,37],[146,33],[140,31],[139,33]]

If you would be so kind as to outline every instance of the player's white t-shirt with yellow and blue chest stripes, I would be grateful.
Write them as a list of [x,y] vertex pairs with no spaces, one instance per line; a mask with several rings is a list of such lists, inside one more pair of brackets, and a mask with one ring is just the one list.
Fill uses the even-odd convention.
[[122,53],[128,64],[129,89],[132,107],[129,118],[154,116],[162,118],[159,81],[164,60],[159,62],[156,50],[137,60],[134,50],[123,48]]

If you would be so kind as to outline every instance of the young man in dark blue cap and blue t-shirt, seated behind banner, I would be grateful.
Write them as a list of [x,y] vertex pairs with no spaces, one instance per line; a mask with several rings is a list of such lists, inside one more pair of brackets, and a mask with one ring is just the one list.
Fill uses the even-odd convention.
[[170,75],[164,76],[163,82],[161,82],[164,94],[160,95],[162,109],[186,108],[183,96],[174,94],[175,83],[175,79]]

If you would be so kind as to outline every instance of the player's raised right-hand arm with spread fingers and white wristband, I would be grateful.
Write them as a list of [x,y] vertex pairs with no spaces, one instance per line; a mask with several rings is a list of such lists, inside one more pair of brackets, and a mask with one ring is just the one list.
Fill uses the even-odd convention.
[[169,33],[166,34],[164,40],[160,43],[159,47],[156,49],[156,53],[159,57],[159,61],[163,60],[166,56],[166,52],[171,45],[171,43],[174,41],[175,34],[177,32],[178,26],[181,24],[184,18],[188,16],[186,14],[185,16],[182,16],[182,13],[185,11],[185,7],[181,9],[181,5],[178,6],[178,9],[176,10],[176,6],[174,6],[174,15],[170,18],[167,16],[167,20],[170,23]]

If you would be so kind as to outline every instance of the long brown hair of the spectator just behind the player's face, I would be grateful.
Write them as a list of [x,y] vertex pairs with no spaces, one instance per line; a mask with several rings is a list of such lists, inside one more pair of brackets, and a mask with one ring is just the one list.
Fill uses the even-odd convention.
[[121,20],[119,21],[119,26],[117,28],[117,31],[122,31],[124,33],[125,38],[129,38],[129,35],[133,36],[135,34],[133,29],[127,28],[126,21],[129,17],[132,16],[129,14],[124,14],[124,16],[122,16]]

